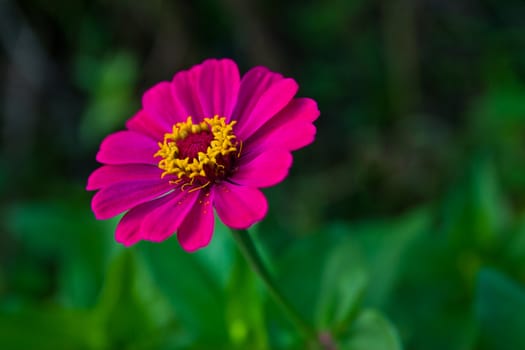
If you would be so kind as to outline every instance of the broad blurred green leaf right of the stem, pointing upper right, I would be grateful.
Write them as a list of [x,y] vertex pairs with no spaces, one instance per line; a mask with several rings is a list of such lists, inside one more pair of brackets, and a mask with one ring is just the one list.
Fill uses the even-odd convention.
[[353,321],[362,297],[366,305],[387,301],[404,252],[429,225],[425,209],[394,220],[331,225],[291,247],[278,265],[281,285],[303,315],[340,332]]

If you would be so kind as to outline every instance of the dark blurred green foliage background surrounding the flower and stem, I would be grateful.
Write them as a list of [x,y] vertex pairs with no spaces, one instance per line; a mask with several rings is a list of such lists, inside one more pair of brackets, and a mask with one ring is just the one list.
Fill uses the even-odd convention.
[[0,348],[304,349],[218,225],[123,249],[86,179],[208,57],[293,77],[316,142],[252,233],[341,349],[525,349],[525,2],[0,1]]

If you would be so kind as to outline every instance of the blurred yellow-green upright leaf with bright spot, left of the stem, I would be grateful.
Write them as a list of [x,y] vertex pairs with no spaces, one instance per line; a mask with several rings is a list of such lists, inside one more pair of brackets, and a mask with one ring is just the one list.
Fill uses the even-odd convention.
[[227,290],[226,318],[232,343],[238,349],[267,349],[263,300],[256,275],[239,252]]

